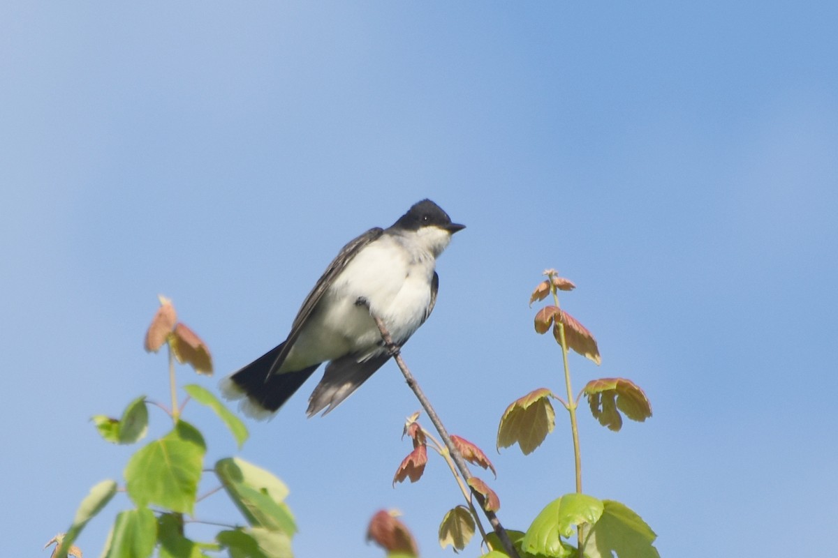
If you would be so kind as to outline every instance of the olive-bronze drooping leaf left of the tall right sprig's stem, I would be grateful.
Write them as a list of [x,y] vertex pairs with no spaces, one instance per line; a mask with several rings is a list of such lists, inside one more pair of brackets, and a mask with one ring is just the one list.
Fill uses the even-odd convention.
[[556,425],[551,395],[550,390],[542,387],[506,407],[498,427],[498,448],[517,442],[525,455],[538,448]]

